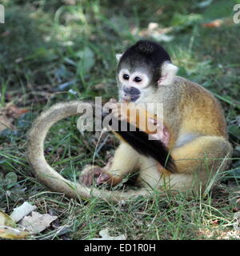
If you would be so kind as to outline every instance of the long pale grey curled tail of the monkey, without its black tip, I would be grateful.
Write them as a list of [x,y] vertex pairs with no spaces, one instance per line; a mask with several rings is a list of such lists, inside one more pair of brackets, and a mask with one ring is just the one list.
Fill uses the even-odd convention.
[[[34,121],[33,126],[28,134],[27,158],[31,164],[32,171],[37,178],[43,182],[50,190],[66,194],[70,198],[91,198],[98,197],[108,202],[119,202],[131,197],[139,195],[150,195],[150,190],[130,190],[127,192],[98,190],[90,188],[80,183],[75,183],[63,178],[58,174],[47,162],[44,156],[44,140],[50,127],[55,122],[73,115],[78,115],[79,107],[86,106],[86,102],[65,102],[51,106],[50,109],[42,112],[42,114]],[[93,105],[94,107],[94,105]]]

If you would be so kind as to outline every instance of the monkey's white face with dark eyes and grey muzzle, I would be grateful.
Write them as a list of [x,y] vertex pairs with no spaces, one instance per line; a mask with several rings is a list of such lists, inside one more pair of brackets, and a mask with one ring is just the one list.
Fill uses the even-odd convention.
[[146,94],[152,92],[152,78],[140,69],[122,68],[118,72],[119,96],[123,102],[141,102]]

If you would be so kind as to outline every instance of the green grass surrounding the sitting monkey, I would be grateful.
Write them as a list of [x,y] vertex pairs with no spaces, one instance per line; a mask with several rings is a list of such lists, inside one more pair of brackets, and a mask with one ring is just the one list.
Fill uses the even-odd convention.
[[[2,1],[6,23],[0,24],[0,104],[14,102],[30,110],[15,120],[18,130],[0,134],[0,209],[11,213],[29,201],[42,213],[57,214],[53,226],[34,239],[90,239],[100,230],[128,239],[234,239],[239,204],[240,69],[239,25],[232,22],[239,1]],[[221,26],[203,26],[215,19]],[[42,186],[25,158],[26,132],[39,112],[72,99],[105,101],[117,97],[115,54],[142,36],[150,22],[169,31],[161,42],[179,66],[179,75],[198,82],[221,102],[228,123],[233,161],[218,186],[199,195],[138,198],[114,205],[92,198],[77,202]],[[159,41],[159,33],[154,34]],[[98,134],[79,134],[76,118],[67,118],[46,139],[46,158],[74,180],[92,162]],[[104,165],[118,142],[109,135],[95,163]],[[239,194],[238,194],[239,196]]]

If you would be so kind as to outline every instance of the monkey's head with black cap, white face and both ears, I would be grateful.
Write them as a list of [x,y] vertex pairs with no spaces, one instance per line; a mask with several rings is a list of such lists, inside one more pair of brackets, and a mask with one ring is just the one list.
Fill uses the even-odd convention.
[[126,102],[136,102],[154,93],[158,86],[170,86],[178,71],[166,50],[156,42],[138,41],[116,58],[119,94]]

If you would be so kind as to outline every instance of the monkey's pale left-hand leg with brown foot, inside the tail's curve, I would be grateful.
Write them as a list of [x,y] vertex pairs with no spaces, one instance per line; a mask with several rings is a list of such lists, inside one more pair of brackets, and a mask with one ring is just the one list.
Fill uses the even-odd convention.
[[122,142],[114,153],[114,158],[105,167],[86,166],[82,170],[80,180],[87,186],[90,186],[94,178],[97,183],[107,182],[115,186],[122,181],[126,174],[134,172],[138,168],[139,154],[126,142]]

